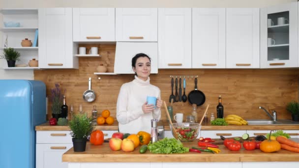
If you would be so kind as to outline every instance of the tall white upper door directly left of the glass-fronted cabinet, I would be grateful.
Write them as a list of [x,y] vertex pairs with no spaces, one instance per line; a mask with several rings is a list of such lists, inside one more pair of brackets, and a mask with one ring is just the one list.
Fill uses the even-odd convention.
[[260,68],[259,8],[226,8],[226,68]]

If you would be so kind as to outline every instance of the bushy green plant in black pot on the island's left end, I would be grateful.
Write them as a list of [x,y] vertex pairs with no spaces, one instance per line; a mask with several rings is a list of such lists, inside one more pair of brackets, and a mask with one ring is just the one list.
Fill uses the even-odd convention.
[[69,121],[71,136],[75,152],[83,152],[86,148],[87,137],[94,129],[92,118],[87,117],[87,113],[78,113]]

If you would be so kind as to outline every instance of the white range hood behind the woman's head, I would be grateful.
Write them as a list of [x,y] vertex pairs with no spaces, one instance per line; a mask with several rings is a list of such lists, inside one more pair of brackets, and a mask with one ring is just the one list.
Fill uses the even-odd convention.
[[158,73],[157,42],[117,42],[114,61],[114,73],[135,74],[132,69],[132,57],[144,53],[151,59],[151,74]]

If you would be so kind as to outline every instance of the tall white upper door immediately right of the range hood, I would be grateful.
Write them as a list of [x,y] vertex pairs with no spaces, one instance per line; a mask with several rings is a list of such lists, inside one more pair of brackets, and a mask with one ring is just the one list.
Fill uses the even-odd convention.
[[191,68],[191,8],[158,9],[159,68]]

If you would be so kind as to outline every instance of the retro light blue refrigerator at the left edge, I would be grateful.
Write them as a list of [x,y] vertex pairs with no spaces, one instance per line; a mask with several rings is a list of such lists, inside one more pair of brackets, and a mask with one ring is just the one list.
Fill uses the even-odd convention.
[[35,168],[35,126],[46,122],[46,85],[0,80],[0,168]]

